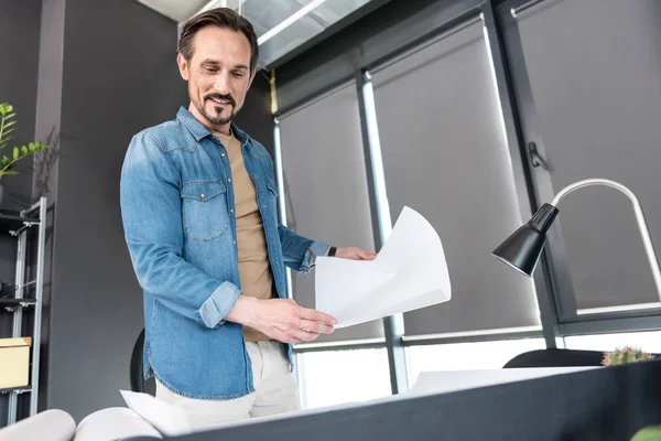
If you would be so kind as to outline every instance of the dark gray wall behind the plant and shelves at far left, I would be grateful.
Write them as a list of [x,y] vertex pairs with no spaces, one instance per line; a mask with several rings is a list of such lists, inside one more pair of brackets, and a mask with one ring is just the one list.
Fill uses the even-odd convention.
[[[18,112],[14,142],[34,140],[41,0],[0,0],[0,103],[11,103]],[[14,144],[10,144],[12,148]],[[6,154],[6,152],[2,152]],[[18,176],[2,179],[2,208],[18,209],[30,202],[32,160],[17,164]],[[14,280],[15,239],[0,235],[0,279]],[[0,338],[11,336],[12,314],[0,310]],[[8,396],[0,396],[0,426],[7,420]]]

